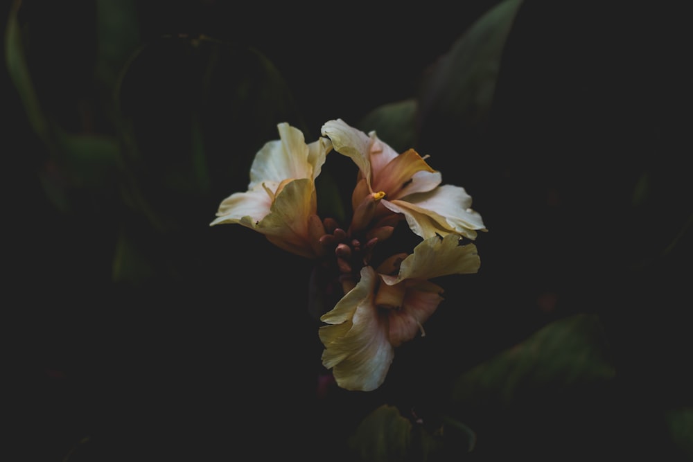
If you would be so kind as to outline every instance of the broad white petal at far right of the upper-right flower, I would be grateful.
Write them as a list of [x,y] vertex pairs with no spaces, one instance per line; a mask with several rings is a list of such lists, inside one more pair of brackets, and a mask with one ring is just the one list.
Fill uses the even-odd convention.
[[429,193],[417,193],[396,201],[383,201],[390,211],[403,213],[414,233],[430,238],[457,233],[476,239],[476,231],[486,231],[482,217],[471,209],[472,199],[464,188],[446,184]]

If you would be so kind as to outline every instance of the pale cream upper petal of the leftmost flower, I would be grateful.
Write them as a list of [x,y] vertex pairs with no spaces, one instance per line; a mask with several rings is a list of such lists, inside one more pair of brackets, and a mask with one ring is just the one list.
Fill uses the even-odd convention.
[[[250,167],[250,184],[254,188],[263,181],[313,178],[313,165],[308,162],[310,150],[301,130],[288,123],[277,125],[279,140],[268,141],[255,154]],[[317,157],[317,156],[316,156]]]

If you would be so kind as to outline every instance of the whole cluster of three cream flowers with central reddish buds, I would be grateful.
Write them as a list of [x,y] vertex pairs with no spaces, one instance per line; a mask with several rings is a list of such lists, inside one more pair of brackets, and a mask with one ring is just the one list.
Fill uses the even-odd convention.
[[[375,132],[365,134],[341,119],[325,123],[310,144],[295,127],[278,128],[280,139],[256,154],[248,190],[224,199],[211,224],[247,226],[334,272],[342,296],[320,317],[322,362],[340,387],[376,389],[394,348],[423,335],[423,323],[443,300],[442,288],[430,279],[479,269],[469,241],[486,231],[484,223],[464,188],[441,186],[440,172],[412,149],[399,154]],[[348,226],[317,215],[315,178],[332,150],[358,167]],[[374,258],[378,243],[400,222],[419,244]]]

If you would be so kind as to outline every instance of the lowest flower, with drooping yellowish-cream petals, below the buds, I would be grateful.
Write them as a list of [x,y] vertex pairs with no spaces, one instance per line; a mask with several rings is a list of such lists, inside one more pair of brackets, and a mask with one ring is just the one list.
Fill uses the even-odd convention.
[[[431,278],[478,271],[473,244],[461,245],[456,234],[433,236],[414,253],[387,259],[376,271],[364,266],[360,281],[323,314],[319,328],[325,349],[322,364],[337,384],[348,390],[371,391],[383,384],[394,348],[422,332],[423,323],[443,300],[442,288]],[[393,271],[394,270],[394,271]]]

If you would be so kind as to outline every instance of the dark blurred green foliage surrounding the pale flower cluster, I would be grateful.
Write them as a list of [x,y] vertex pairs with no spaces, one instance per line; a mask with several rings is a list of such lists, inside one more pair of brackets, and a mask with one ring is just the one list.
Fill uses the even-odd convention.
[[[684,15],[222,3],[6,7],[24,459],[692,459]],[[312,263],[209,226],[277,123],[328,118],[430,155],[489,228],[371,393],[322,368]],[[328,155],[321,215],[355,176]]]

